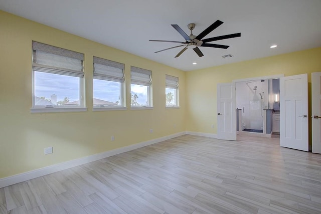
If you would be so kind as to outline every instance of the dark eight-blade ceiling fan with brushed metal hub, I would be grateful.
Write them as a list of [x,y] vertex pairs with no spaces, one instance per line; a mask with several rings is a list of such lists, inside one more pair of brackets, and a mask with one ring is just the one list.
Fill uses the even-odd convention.
[[212,38],[208,38],[208,39],[202,40],[205,36],[207,36],[209,33],[211,33],[213,30],[215,30],[217,27],[219,27],[222,24],[223,24],[222,21],[217,20],[215,23],[213,23],[210,27],[205,29],[198,36],[194,36],[193,35],[193,29],[195,28],[195,24],[194,23],[191,23],[191,24],[188,25],[188,28],[191,31],[191,35],[190,36],[188,36],[178,25],[172,25],[172,27],[175,28],[175,30],[177,30],[184,37],[186,42],[168,41],[168,40],[149,40],[149,41],[151,41],[151,42],[169,42],[169,43],[180,43],[180,44],[183,44],[183,45],[175,46],[175,47],[172,47],[172,48],[163,49],[161,51],[156,51],[155,53],[185,46],[183,48],[183,50],[180,51],[180,53],[178,53],[175,56],[175,58],[181,56],[181,54],[183,54],[183,52],[186,51],[187,49],[193,49],[195,51],[195,53],[197,53],[197,55],[199,55],[199,57],[203,57],[204,54],[201,52],[199,47],[210,47],[210,48],[227,49],[229,47],[227,45],[217,45],[217,44],[211,44],[209,42],[218,41],[218,40],[225,40],[225,39],[230,39],[230,38],[235,38],[235,37],[240,37],[241,36],[241,33],[236,33],[236,34],[229,34],[229,35],[224,35],[224,36],[219,36],[219,37],[212,37]]

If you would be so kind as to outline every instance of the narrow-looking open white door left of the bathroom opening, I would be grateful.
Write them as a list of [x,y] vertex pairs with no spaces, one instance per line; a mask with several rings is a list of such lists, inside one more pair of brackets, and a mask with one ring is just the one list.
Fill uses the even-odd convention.
[[217,138],[236,140],[235,83],[217,84]]

